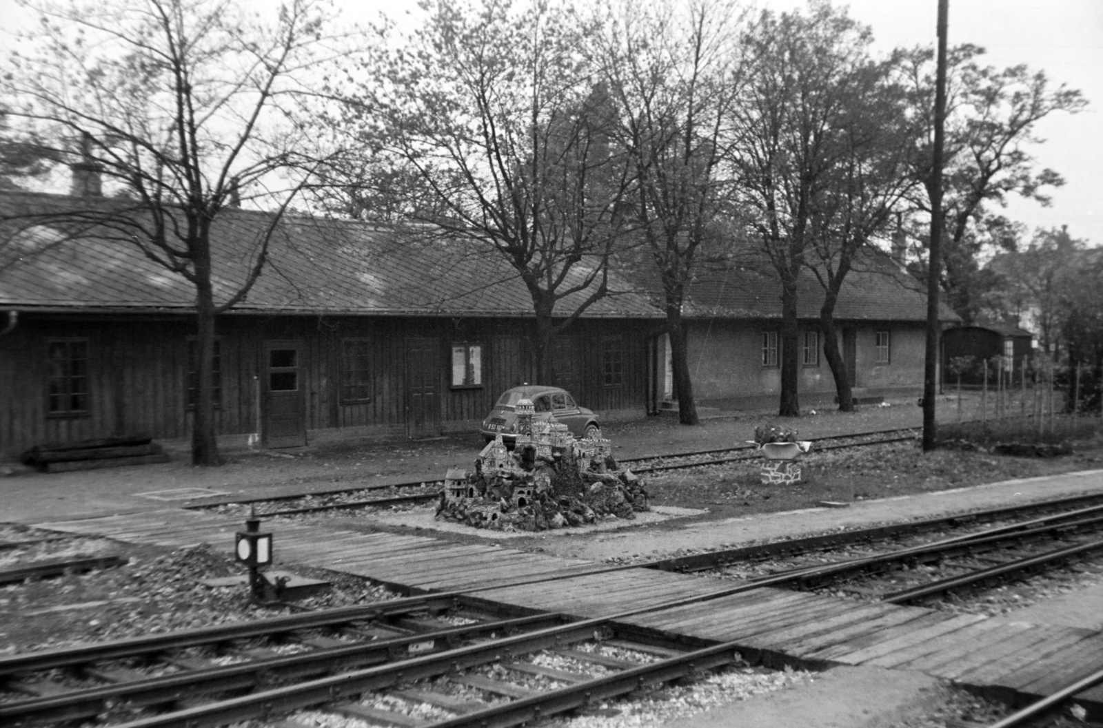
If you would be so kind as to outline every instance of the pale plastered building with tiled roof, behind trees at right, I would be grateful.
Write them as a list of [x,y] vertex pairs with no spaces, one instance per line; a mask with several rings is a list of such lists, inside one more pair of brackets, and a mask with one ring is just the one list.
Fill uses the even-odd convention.
[[[808,401],[834,401],[835,380],[820,333],[824,289],[802,272],[799,392]],[[940,305],[943,325],[960,320]],[[705,271],[688,289],[683,306],[689,369],[698,404],[721,410],[777,401],[781,392],[781,283],[768,261]],[[890,256],[868,251],[843,283],[834,311],[839,352],[856,398],[892,396],[923,387],[927,295],[922,284]],[[656,406],[672,404],[670,347],[656,340]]]

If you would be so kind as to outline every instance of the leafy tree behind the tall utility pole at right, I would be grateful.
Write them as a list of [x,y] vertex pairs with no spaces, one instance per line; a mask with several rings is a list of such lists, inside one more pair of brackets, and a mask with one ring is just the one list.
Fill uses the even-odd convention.
[[[982,251],[1005,246],[1014,235],[1014,225],[995,208],[1013,194],[1048,205],[1046,191],[1064,184],[1057,172],[1037,170],[1027,149],[1042,141],[1035,127],[1053,112],[1074,113],[1086,104],[1078,90],[1063,84],[1053,88],[1043,72],[1025,65],[1003,70],[983,66],[983,48],[961,45],[947,55],[942,286],[947,303],[966,323],[978,312],[976,293],[992,283],[982,273]],[[898,58],[899,83],[907,89],[915,124],[911,176],[921,192],[911,203],[927,216],[933,184],[933,51],[899,51]],[[915,271],[925,279],[923,265]]]

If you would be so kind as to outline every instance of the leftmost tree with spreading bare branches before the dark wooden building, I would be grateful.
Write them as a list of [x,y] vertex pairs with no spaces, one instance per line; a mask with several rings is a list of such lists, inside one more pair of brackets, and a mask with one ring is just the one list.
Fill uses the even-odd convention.
[[[293,112],[331,53],[326,13],[313,0],[259,13],[231,0],[29,7],[38,30],[11,54],[0,93],[13,129],[77,171],[84,196],[8,222],[136,245],[194,285],[192,460],[215,465],[215,317],[249,292],[287,205],[318,164]],[[291,182],[272,188],[280,174]],[[211,230],[242,196],[274,213],[247,275],[233,280],[215,269]]]

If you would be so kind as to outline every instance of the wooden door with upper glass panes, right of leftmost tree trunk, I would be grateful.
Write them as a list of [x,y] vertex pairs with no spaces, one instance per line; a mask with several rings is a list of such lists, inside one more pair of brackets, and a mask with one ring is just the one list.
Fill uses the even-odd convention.
[[265,447],[301,447],[307,444],[302,344],[265,341],[263,357],[263,443]]

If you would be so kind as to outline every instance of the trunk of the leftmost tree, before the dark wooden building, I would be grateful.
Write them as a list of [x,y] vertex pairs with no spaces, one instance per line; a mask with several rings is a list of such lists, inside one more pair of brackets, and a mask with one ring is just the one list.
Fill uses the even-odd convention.
[[211,249],[202,246],[195,257],[195,411],[192,426],[192,465],[221,465],[214,434],[214,290],[211,285]]

